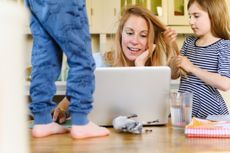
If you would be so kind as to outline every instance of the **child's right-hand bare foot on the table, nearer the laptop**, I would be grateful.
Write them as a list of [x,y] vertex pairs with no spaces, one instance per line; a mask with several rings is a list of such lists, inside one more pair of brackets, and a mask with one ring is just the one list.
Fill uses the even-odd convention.
[[102,137],[109,135],[109,133],[109,130],[93,122],[89,122],[86,125],[72,125],[71,128],[71,135],[74,139]]

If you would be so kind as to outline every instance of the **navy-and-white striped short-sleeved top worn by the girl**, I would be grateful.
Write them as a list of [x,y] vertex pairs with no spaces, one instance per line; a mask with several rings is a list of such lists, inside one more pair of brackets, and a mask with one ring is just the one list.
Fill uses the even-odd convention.
[[[197,38],[188,37],[181,49],[194,65],[209,72],[230,78],[230,41],[220,39],[208,46],[196,46]],[[206,118],[208,115],[228,114],[227,106],[219,91],[205,84],[196,76],[181,77],[179,92],[193,93],[192,115]]]

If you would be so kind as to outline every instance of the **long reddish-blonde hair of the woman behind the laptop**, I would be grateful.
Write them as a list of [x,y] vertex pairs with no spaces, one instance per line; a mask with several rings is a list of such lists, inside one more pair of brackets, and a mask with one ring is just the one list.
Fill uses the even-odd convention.
[[[130,16],[138,16],[145,19],[148,26],[147,48],[152,50],[153,44],[156,44],[155,50],[146,61],[146,66],[167,65],[169,58],[179,52],[178,47],[173,44],[174,48],[168,48],[163,40],[162,32],[166,30],[166,26],[148,9],[140,6],[127,7],[120,19],[118,30],[115,36],[115,51],[112,56],[112,66],[134,66],[134,62],[130,62],[124,55],[122,50],[122,31],[126,21]],[[110,56],[111,57],[111,56]],[[110,58],[111,59],[111,58]],[[110,60],[111,61],[111,60]]]

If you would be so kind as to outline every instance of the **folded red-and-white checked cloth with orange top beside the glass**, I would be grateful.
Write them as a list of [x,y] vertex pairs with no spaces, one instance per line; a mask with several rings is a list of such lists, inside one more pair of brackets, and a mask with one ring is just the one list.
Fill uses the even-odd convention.
[[185,127],[185,135],[187,137],[229,138],[230,122],[193,117],[191,123]]

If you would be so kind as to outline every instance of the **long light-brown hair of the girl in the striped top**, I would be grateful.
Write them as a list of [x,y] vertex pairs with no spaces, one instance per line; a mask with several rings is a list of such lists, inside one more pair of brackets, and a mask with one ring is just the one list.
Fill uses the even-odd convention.
[[225,0],[189,0],[187,9],[197,3],[209,15],[211,32],[222,39],[230,39],[230,18]]

